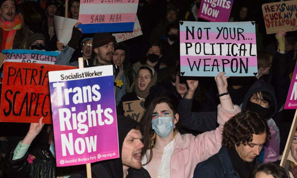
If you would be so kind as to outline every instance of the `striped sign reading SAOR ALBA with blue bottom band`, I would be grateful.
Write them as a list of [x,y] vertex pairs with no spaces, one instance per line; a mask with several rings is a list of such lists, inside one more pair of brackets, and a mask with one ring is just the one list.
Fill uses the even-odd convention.
[[133,31],[138,0],[80,0],[83,33]]

